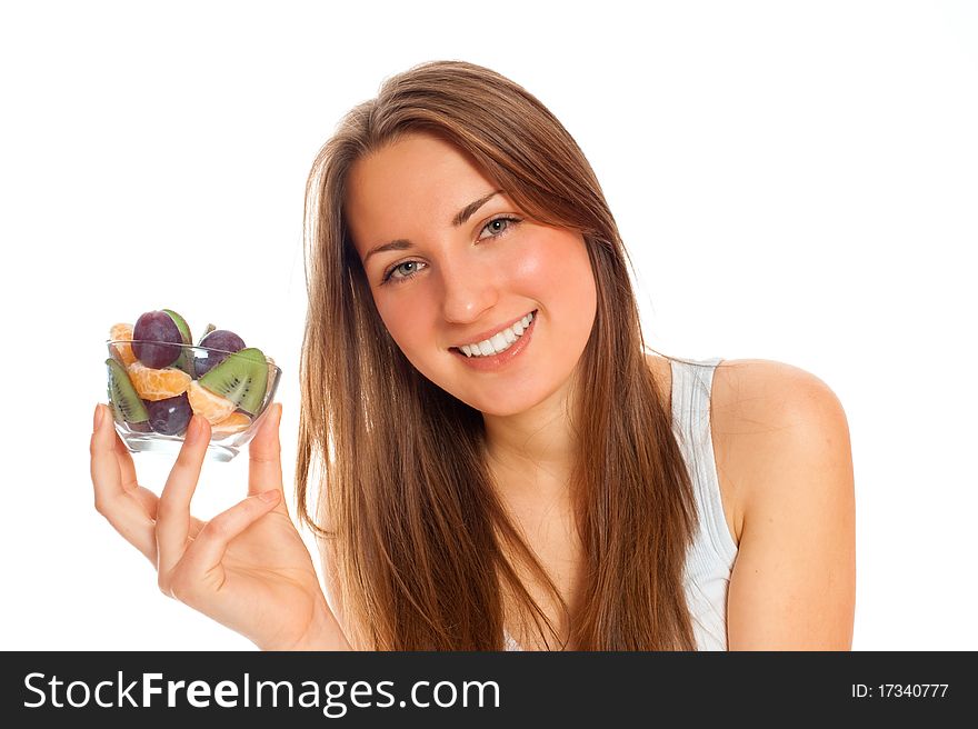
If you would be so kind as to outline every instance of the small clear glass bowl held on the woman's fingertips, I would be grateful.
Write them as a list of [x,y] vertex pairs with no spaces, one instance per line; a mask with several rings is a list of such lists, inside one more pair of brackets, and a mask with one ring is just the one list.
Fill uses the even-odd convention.
[[[169,367],[152,370],[134,358],[133,343],[140,348],[143,344],[169,348],[174,354],[179,350],[180,357]],[[282,376],[272,359],[262,356],[267,380],[259,398],[258,392],[251,391],[256,389],[253,382],[258,381],[256,369],[259,366],[256,362],[260,361],[253,351],[227,352],[193,344],[122,340],[107,340],[106,346],[109,350],[106,360],[109,407],[114,416],[116,432],[131,452],[176,455],[183,443],[190,415],[200,410],[211,422],[207,458],[231,460],[255,437],[268,406],[275,401]],[[200,377],[207,375],[208,369],[212,371],[231,359],[236,361],[234,369],[240,364],[240,371],[249,375],[242,379],[233,369],[223,368],[228,375],[219,379],[227,382],[228,397],[201,386]],[[211,376],[204,382],[212,387],[213,380]],[[118,403],[112,397],[113,382]],[[187,389],[179,392],[184,386]]]

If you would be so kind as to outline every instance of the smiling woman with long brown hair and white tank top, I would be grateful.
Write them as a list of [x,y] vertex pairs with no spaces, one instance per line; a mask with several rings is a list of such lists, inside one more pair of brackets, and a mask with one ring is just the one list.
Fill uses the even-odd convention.
[[159,498],[97,409],[99,510],[261,648],[848,649],[845,413],[799,369],[647,353],[593,171],[512,81],[388,79],[307,190],[299,513],[276,408],[207,523],[191,431]]

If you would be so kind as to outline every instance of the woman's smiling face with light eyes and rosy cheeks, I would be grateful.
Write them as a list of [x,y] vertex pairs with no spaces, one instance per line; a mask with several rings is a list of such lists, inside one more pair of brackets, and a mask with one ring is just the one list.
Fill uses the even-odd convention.
[[506,416],[568,381],[597,297],[583,238],[527,219],[497,191],[467,154],[412,133],[353,166],[345,206],[405,357],[459,400]]

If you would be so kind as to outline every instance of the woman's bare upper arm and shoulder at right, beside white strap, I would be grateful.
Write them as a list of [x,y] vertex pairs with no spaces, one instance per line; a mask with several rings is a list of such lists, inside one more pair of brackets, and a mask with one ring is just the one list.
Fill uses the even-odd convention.
[[728,592],[728,647],[849,650],[856,520],[846,415],[804,370],[769,362],[758,376],[762,385],[746,400],[752,436],[742,461],[749,467],[739,473],[744,523]]

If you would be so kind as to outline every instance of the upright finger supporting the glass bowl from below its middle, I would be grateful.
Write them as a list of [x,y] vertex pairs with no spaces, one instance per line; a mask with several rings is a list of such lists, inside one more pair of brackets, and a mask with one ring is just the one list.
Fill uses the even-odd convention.
[[200,416],[193,416],[187,427],[180,455],[160,493],[156,536],[161,586],[187,548],[191,525],[190,500],[197,489],[209,441],[210,423]]

